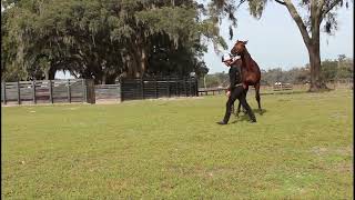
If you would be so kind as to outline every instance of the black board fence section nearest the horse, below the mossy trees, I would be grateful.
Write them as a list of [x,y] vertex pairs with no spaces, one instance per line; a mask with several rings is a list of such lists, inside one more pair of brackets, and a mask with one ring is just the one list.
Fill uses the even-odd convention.
[[142,78],[121,80],[121,101],[170,97],[197,97],[194,78]]

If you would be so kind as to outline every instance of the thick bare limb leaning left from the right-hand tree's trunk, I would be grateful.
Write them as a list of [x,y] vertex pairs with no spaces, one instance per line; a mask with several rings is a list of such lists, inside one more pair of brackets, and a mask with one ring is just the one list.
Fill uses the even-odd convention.
[[284,2],[285,2],[285,6],[286,6],[291,17],[295,20],[305,44],[308,47],[311,44],[311,38],[307,32],[306,26],[304,24],[302,18],[300,17],[295,6],[291,2],[291,0],[284,0]]

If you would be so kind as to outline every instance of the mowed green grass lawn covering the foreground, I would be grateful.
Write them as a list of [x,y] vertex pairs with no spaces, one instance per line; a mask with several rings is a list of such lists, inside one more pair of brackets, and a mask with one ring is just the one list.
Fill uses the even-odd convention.
[[[248,94],[252,108],[257,108]],[[4,199],[353,199],[353,91],[2,108]]]

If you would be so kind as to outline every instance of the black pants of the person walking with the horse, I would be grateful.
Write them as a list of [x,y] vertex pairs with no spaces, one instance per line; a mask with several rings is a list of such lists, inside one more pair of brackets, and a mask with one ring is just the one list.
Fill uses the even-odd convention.
[[229,100],[226,101],[226,110],[225,110],[225,116],[224,116],[223,121],[225,123],[229,122],[231,113],[232,113],[232,106],[236,99],[240,100],[242,107],[246,110],[246,113],[248,114],[250,119],[255,122],[256,119],[255,119],[254,112],[252,111],[251,107],[246,102],[245,90],[242,86],[239,86],[231,91],[231,96],[229,97]]

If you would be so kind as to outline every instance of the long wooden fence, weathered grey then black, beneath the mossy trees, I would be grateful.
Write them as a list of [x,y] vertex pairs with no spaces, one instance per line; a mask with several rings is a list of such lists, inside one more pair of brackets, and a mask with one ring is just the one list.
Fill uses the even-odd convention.
[[2,104],[71,103],[97,100],[126,101],[199,96],[194,78],[122,79],[119,84],[98,84],[93,80],[36,80],[1,83]]

